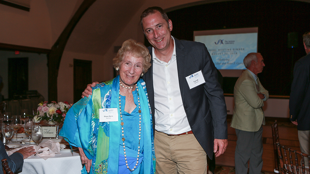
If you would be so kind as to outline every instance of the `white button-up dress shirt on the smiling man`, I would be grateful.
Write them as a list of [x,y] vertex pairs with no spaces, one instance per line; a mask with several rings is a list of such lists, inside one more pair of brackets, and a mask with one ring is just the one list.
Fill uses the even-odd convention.
[[[172,39],[174,41],[173,37]],[[175,41],[173,54],[168,63],[156,57],[154,47],[152,54],[155,130],[167,134],[188,132],[191,129],[181,97]]]

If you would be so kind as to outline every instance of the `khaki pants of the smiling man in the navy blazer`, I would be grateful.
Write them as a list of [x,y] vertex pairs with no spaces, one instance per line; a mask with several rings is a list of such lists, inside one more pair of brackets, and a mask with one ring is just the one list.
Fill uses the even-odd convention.
[[207,154],[194,134],[170,136],[155,131],[157,174],[207,173]]

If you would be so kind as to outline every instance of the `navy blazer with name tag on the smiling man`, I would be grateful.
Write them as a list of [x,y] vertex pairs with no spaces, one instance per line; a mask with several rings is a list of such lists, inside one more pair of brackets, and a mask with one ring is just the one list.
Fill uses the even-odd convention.
[[[176,59],[182,102],[194,136],[212,159],[214,138],[227,139],[227,110],[223,90],[212,59],[204,44],[175,39]],[[152,56],[152,47],[148,47]],[[151,59],[153,65],[153,60]],[[189,89],[185,77],[202,70],[206,83]],[[153,114],[155,107],[153,66],[143,76]]]

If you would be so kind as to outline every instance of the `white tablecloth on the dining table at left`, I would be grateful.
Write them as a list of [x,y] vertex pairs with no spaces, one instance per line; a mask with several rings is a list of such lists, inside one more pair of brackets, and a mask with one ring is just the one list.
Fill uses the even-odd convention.
[[[65,142],[62,137],[59,139],[43,139],[43,141],[54,140],[57,142]],[[82,170],[82,162],[79,151],[60,150],[61,154],[44,160],[40,157],[32,155],[24,159],[22,172],[20,174],[78,174]]]

